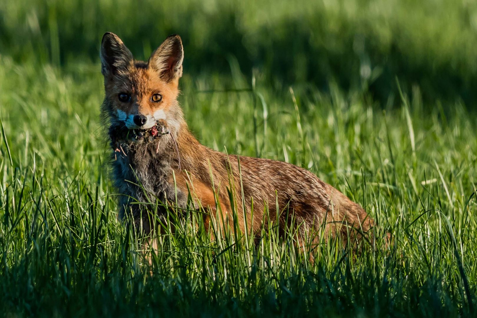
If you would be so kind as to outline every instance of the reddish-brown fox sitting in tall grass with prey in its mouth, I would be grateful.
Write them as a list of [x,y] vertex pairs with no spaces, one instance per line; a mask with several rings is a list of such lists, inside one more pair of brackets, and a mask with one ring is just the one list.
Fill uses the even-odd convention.
[[315,246],[321,236],[342,236],[353,246],[373,239],[375,222],[364,209],[309,170],[218,152],[197,141],[177,101],[184,60],[179,35],[168,36],[143,62],[106,32],[100,60],[119,218],[130,217],[137,231],[150,235],[166,212],[135,203],[155,197],[178,211],[192,197],[207,228],[225,228],[235,218],[237,230],[258,237],[264,224],[273,224],[280,235],[296,231],[301,248],[305,238]]

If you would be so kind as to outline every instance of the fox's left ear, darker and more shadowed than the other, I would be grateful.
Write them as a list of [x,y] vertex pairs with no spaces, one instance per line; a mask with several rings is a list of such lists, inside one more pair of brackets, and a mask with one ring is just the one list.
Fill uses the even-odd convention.
[[123,41],[114,33],[106,32],[101,40],[101,73],[104,76],[126,70],[133,61],[133,54],[126,48]]

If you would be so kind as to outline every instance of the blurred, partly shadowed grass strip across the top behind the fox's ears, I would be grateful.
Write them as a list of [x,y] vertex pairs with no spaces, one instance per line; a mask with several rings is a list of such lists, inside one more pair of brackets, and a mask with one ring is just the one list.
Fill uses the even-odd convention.
[[98,61],[104,31],[147,58],[171,33],[184,40],[188,73],[230,72],[230,59],[271,81],[369,92],[397,103],[477,97],[477,2],[470,0],[6,0],[0,52],[53,65]]

